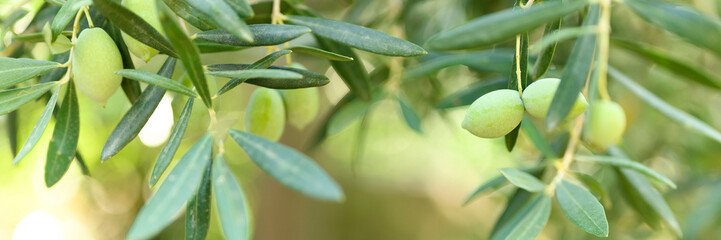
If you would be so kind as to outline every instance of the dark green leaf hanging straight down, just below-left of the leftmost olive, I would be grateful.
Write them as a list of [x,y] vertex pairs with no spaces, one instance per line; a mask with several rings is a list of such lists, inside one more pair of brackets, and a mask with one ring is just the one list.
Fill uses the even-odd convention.
[[78,146],[80,131],[78,98],[72,82],[68,83],[67,89],[63,104],[60,105],[58,115],[55,117],[57,121],[53,138],[48,145],[45,159],[45,186],[48,188],[60,181],[68,171]]

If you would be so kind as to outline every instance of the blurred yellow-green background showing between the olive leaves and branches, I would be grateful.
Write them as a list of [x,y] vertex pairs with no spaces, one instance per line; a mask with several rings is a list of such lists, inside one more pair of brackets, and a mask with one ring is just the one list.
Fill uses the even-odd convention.
[[[28,1],[0,0],[0,18],[19,4]],[[258,2],[258,1],[251,1]],[[422,44],[427,37],[456,26],[481,14],[512,6],[512,1],[492,0],[308,0],[324,17],[343,19],[365,25]],[[32,0],[31,9],[43,1]],[[721,1],[685,1],[712,16],[718,16]],[[31,13],[32,14],[32,13]],[[578,25],[578,14],[564,19],[564,27]],[[27,25],[23,19],[16,26]],[[674,57],[693,63],[718,76],[721,62],[695,46],[649,25],[622,4],[613,8],[613,36],[637,40],[663,48]],[[479,29],[493,31],[493,29]],[[534,31],[531,44],[542,30]],[[9,42],[9,39],[3,39]],[[314,45],[309,36],[291,45]],[[560,75],[561,66],[573,41],[559,43],[549,76]],[[508,48],[511,41],[496,46]],[[32,57],[49,59],[47,46],[37,44]],[[266,48],[239,52],[206,54],[204,64],[251,63],[267,53]],[[392,66],[397,74],[420,59],[388,58],[358,51],[371,71]],[[135,59],[138,69],[155,72],[165,56],[148,63]],[[277,64],[284,64],[281,59]],[[321,119],[348,92],[347,87],[327,61],[293,55],[312,71],[324,73],[331,83],[321,87]],[[691,115],[721,128],[721,96],[694,84],[623,49],[611,49],[611,65],[633,77],[650,91]],[[174,79],[183,74],[176,68]],[[469,84],[498,76],[477,72],[464,66],[450,67],[428,79],[396,83],[423,116],[423,133],[411,130],[404,122],[397,102],[387,99],[378,103],[368,116],[365,127],[355,121],[330,136],[320,148],[305,151],[343,187],[346,200],[326,203],[302,196],[281,186],[256,167],[235,144],[226,144],[226,159],[246,191],[253,212],[254,239],[486,239],[493,223],[512,193],[504,187],[462,206],[465,197],[483,181],[498,175],[497,168],[529,167],[539,153],[521,134],[512,153],[505,150],[502,139],[479,139],[461,129],[465,107],[436,110],[435,102]],[[227,81],[217,78],[216,88]],[[440,86],[434,86],[434,81]],[[721,229],[714,228],[721,218],[721,148],[719,144],[683,126],[671,122],[650,109],[625,88],[611,80],[611,95],[624,107],[629,122],[623,148],[637,161],[669,176],[678,189],[664,196],[684,227],[688,239],[718,239]],[[252,90],[251,85],[235,88],[220,98],[218,116],[223,124],[243,129],[243,114]],[[212,91],[212,90],[211,90]],[[32,153],[19,165],[10,164],[12,155],[6,116],[0,116],[0,239],[122,239],[127,228],[150,196],[148,177],[162,144],[183,106],[174,94],[166,98],[151,118],[150,127],[111,160],[100,163],[105,140],[123,113],[130,108],[118,91],[101,108],[79,94],[81,129],[79,152],[84,156],[90,175],[81,174],[74,162],[68,174],[51,189],[43,183],[43,166],[52,130],[47,130]],[[18,141],[23,143],[43,105],[33,102],[18,112]],[[207,128],[208,118],[201,104],[196,104],[185,139],[176,160]],[[48,129],[52,129],[51,121]],[[280,142],[306,149],[319,122],[303,130],[290,126]],[[359,138],[359,131],[366,131]],[[359,144],[360,143],[360,144]],[[360,147],[359,147],[360,146]],[[359,150],[360,149],[360,150]],[[360,153],[356,161],[354,154]],[[172,166],[171,166],[172,167]],[[675,239],[666,229],[654,231],[622,201],[613,188],[613,172],[597,166],[574,165],[574,169],[600,176],[610,200],[604,201],[610,222],[610,239]],[[215,210],[214,210],[215,211]],[[540,239],[595,238],[571,224],[554,207],[549,224]],[[211,217],[208,239],[222,239],[217,215]],[[157,239],[181,239],[184,217],[165,229]]]

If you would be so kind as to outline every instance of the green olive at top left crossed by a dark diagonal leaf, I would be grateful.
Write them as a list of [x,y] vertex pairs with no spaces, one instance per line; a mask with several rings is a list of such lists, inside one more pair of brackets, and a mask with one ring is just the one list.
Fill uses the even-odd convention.
[[[162,29],[160,25],[160,19],[158,19],[158,10],[155,1],[148,0],[123,0],[121,3],[125,8],[129,9],[133,13],[137,14],[140,18],[145,20],[153,26],[156,30]],[[159,30],[162,33],[162,30]],[[133,55],[143,59],[143,61],[150,61],[153,56],[158,54],[158,50],[148,47],[147,45],[135,40],[133,37],[122,33],[123,41],[128,46]]]

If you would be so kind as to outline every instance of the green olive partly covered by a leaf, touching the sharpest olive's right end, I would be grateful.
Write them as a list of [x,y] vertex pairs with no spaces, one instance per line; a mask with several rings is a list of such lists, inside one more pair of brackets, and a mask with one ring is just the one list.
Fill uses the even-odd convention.
[[[556,89],[558,89],[560,83],[561,79],[558,78],[544,78],[528,85],[528,87],[523,90],[522,97],[523,105],[526,107],[528,114],[536,118],[546,119],[553,95],[556,94]],[[583,94],[579,93],[578,99],[576,99],[566,119],[578,117],[578,115],[586,111],[586,108],[588,108],[588,102],[586,102]]]

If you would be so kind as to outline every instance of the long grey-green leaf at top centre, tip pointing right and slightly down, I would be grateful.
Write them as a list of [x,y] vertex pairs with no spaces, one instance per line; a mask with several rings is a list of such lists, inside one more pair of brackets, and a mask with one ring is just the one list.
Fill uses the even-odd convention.
[[403,57],[417,57],[427,53],[406,40],[350,23],[304,16],[286,16],[285,20],[307,26],[315,35],[372,53]]

